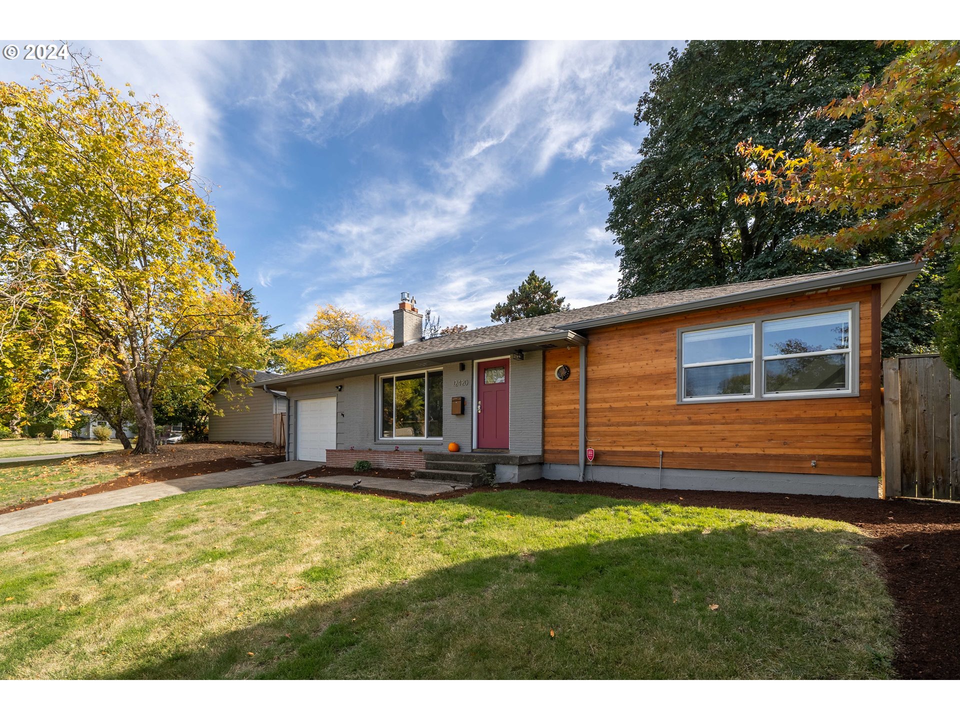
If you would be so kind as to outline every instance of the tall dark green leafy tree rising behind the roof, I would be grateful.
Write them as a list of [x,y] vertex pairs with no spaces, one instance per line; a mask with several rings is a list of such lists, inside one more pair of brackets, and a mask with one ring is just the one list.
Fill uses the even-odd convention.
[[[620,246],[618,296],[906,260],[923,247],[904,230],[852,248],[813,250],[792,242],[851,223],[839,212],[797,213],[783,204],[741,204],[756,185],[744,177],[747,138],[785,153],[808,141],[843,143],[861,117],[820,112],[836,97],[876,81],[902,49],[866,41],[696,41],[652,66],[635,122],[647,136],[639,162],[608,188],[607,228]],[[908,291],[912,313],[889,315],[885,338],[923,350],[937,320],[922,276]],[[914,300],[909,300],[915,296]],[[894,350],[885,343],[884,352]]]

